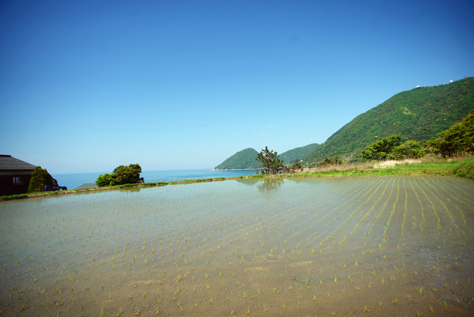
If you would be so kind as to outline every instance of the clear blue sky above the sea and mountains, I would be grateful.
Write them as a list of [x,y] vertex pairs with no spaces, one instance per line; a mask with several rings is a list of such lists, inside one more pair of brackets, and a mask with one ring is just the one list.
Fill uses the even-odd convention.
[[472,1],[0,2],[0,154],[213,168],[474,75]]

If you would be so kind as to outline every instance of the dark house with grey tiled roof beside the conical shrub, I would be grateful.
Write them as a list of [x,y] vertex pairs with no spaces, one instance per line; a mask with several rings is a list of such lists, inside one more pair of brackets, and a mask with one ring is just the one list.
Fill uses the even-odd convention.
[[0,196],[25,194],[36,166],[0,154]]

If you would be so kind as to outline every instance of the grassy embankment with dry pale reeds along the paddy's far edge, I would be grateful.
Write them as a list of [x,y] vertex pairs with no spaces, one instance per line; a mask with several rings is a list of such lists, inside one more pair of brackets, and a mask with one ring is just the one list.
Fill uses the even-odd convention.
[[43,195],[59,195],[73,192],[94,192],[99,190],[112,190],[130,187],[164,186],[175,184],[188,184],[210,181],[222,181],[236,178],[266,178],[266,177],[318,177],[318,176],[390,176],[390,175],[454,175],[474,180],[474,158],[455,157],[438,158],[426,157],[421,159],[405,159],[401,161],[383,161],[378,163],[353,163],[344,165],[328,165],[319,168],[307,168],[303,173],[286,175],[253,175],[245,177],[219,177],[193,180],[182,180],[169,183],[142,183],[125,184],[98,188],[85,188],[75,190],[58,190],[52,192],[36,192],[11,196],[0,196],[0,200],[22,199]]

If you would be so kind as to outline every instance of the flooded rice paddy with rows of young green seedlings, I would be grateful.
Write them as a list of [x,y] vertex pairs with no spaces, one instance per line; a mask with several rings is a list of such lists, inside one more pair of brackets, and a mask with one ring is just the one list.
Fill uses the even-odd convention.
[[0,315],[473,316],[473,194],[275,178],[0,202]]

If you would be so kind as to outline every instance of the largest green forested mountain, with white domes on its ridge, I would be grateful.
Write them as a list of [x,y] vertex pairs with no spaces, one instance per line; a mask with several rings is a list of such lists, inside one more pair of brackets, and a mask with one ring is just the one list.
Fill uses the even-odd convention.
[[339,155],[356,160],[374,140],[401,133],[402,140],[428,140],[447,130],[474,109],[474,77],[451,84],[417,87],[359,114],[303,158],[320,162]]

